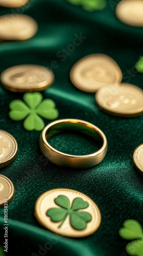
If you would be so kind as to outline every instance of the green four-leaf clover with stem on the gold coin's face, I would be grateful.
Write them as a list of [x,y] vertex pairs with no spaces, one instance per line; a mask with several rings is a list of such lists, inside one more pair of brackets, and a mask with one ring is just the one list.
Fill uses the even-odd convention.
[[77,229],[83,230],[87,226],[87,222],[91,221],[91,215],[86,211],[79,211],[85,209],[89,204],[83,201],[82,198],[75,198],[70,208],[70,201],[66,196],[58,196],[54,202],[61,208],[51,208],[47,210],[47,216],[51,217],[53,222],[60,222],[59,228],[64,223],[66,217],[70,216],[70,225]]

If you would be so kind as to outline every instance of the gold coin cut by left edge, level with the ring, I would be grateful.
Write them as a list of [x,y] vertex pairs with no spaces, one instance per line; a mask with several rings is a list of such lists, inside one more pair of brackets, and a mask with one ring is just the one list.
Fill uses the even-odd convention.
[[0,130],[0,168],[10,164],[17,155],[17,142],[6,131]]

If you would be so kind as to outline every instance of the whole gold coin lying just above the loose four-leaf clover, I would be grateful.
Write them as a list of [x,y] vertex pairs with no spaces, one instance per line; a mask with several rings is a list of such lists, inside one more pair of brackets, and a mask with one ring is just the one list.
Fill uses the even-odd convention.
[[3,87],[12,92],[43,91],[54,82],[51,70],[38,65],[19,65],[1,74]]

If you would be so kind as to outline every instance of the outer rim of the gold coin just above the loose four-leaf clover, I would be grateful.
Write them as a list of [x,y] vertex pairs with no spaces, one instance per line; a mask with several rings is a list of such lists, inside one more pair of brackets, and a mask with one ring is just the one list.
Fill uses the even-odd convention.
[[[18,68],[21,68],[22,69],[22,67],[24,68],[24,67],[28,67],[28,66],[32,66],[33,68],[34,67],[36,67],[36,68],[44,68],[45,70],[47,70],[48,72],[51,72],[51,79],[50,79],[50,81],[48,82],[47,81],[47,79],[46,79],[46,81],[43,81],[42,82],[42,85],[41,86],[33,86],[33,88],[30,88],[30,89],[28,89],[28,88],[17,88],[17,87],[12,87],[12,85],[11,85],[11,83],[6,83],[5,82],[5,76],[7,76],[7,72],[9,72],[9,71],[11,71],[12,69],[18,69]],[[52,70],[50,70],[50,69],[47,69],[46,67],[44,67],[44,66],[40,66],[40,65],[35,65],[35,64],[22,64],[22,65],[16,65],[16,66],[12,66],[12,67],[10,67],[10,68],[7,68],[7,69],[5,69],[3,72],[2,72],[2,74],[1,74],[1,83],[2,83],[2,86],[6,89],[6,90],[8,90],[8,91],[10,91],[10,92],[15,92],[15,93],[25,93],[25,92],[40,92],[40,91],[43,91],[43,90],[45,90],[46,88],[49,88],[53,83],[54,83],[54,80],[55,80],[55,75],[54,75],[54,73],[53,73],[53,71]],[[44,84],[44,85],[43,85]]]

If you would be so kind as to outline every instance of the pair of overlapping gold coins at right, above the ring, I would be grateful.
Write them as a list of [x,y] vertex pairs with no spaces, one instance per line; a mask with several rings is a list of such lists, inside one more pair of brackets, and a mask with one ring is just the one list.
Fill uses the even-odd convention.
[[143,114],[143,91],[121,83],[122,71],[104,54],[92,54],[79,60],[70,71],[71,82],[85,92],[97,92],[96,102],[114,116],[136,117]]

